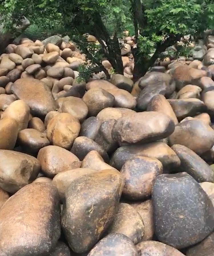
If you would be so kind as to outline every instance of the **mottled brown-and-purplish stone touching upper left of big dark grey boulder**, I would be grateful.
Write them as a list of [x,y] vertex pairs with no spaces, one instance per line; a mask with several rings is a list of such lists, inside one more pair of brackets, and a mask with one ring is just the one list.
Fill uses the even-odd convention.
[[152,194],[156,177],[163,172],[157,158],[136,156],[127,160],[120,173],[124,178],[123,195],[130,200],[143,200]]

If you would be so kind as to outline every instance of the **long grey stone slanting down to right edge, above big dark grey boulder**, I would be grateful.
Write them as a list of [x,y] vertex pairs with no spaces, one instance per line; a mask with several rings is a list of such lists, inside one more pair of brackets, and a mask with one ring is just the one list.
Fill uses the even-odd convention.
[[214,182],[213,170],[195,152],[183,145],[175,144],[171,148],[181,160],[180,172],[187,172],[197,182]]

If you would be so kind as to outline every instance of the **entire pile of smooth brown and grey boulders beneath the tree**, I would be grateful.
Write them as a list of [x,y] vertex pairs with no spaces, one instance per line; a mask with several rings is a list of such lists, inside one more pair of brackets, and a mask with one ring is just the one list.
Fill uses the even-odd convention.
[[213,43],[135,84],[78,83],[72,42],[9,45],[0,256],[213,255]]

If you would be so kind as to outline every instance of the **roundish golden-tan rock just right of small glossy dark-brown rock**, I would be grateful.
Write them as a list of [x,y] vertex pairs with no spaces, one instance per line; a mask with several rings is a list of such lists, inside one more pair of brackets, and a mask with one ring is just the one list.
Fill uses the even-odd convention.
[[80,123],[71,114],[55,115],[47,125],[47,138],[55,145],[70,149],[80,132]]

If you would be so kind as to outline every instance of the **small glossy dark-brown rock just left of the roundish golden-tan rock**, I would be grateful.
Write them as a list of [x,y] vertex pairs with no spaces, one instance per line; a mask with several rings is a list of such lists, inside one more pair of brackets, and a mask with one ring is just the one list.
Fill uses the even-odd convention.
[[30,154],[37,154],[41,148],[50,145],[44,133],[31,128],[21,130],[17,142],[24,152]]

